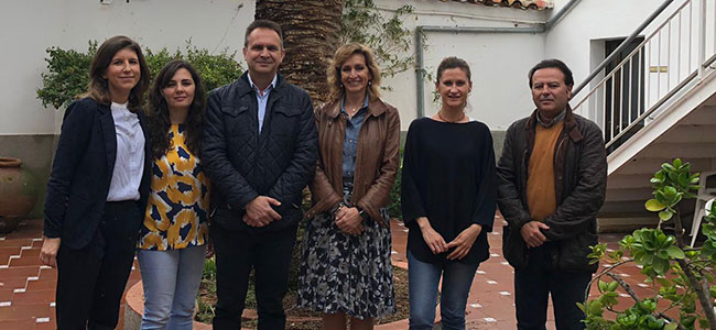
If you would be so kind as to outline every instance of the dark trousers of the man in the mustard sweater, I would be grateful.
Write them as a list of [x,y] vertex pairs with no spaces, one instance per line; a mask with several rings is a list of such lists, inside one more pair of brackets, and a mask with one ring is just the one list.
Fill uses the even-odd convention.
[[557,330],[584,329],[584,292],[592,279],[589,272],[565,272],[556,268],[557,246],[545,243],[529,249],[527,267],[514,272],[514,305],[519,330],[544,330],[547,299],[552,296]]

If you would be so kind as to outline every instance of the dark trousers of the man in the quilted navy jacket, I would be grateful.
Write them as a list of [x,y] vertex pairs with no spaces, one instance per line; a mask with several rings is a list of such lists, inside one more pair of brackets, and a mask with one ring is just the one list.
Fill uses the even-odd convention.
[[241,329],[251,268],[256,279],[258,329],[285,329],[283,297],[288,290],[296,228],[260,234],[211,228],[218,298],[214,329]]

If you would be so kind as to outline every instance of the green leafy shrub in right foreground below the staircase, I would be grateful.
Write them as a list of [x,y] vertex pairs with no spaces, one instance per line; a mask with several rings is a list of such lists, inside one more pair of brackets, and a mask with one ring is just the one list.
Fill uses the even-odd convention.
[[[655,229],[639,229],[626,235],[620,248],[607,253],[606,244],[593,246],[593,262],[604,260],[611,264],[597,274],[599,296],[586,300],[579,308],[586,314],[584,320],[587,329],[716,329],[716,312],[713,299],[716,297],[714,273],[716,268],[716,204],[704,219],[702,232],[706,242],[702,248],[691,248],[684,243],[684,230],[677,205],[686,198],[694,198],[692,190],[698,189],[698,174],[691,174],[691,165],[681,160],[673,164],[664,163],[651,179],[654,198],[644,207],[659,212],[659,226]],[[665,230],[662,230],[663,227]],[[668,234],[673,232],[674,234]],[[653,294],[639,297],[630,285],[621,278],[616,270],[623,264],[636,263],[642,266],[646,283],[653,288]],[[601,278],[608,276],[612,282]],[[592,283],[590,283],[592,284]],[[592,286],[592,285],[589,285]],[[617,297],[623,292],[633,300],[625,310],[617,310]],[[665,304],[659,305],[659,301]],[[697,305],[701,305],[698,310]],[[660,308],[660,306],[665,306]],[[677,311],[677,318],[666,315],[670,309]],[[616,317],[606,317],[609,312]]]

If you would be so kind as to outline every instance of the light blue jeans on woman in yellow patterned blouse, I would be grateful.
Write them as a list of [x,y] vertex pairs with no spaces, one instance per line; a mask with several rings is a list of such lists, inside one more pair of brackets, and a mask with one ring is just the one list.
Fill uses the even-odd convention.
[[142,330],[192,329],[205,254],[206,245],[139,250],[137,258],[144,287]]

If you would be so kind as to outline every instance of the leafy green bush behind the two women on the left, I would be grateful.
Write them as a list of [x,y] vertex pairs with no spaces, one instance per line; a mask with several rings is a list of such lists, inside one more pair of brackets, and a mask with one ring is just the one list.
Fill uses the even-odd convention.
[[[46,50],[47,72],[41,74],[42,88],[37,89],[37,98],[43,107],[51,105],[59,109],[87,90],[89,65],[97,53],[97,41],[89,41],[87,52],[84,53],[56,46]],[[152,73],[152,81],[153,75],[174,58],[184,58],[194,65],[207,90],[229,84],[243,73],[239,63],[234,61],[236,52],[228,53],[225,50],[220,54],[213,55],[207,50],[193,46],[191,41],[186,42],[184,52],[176,50],[172,53],[166,48],[153,52],[149,47],[143,47],[142,51]]]

